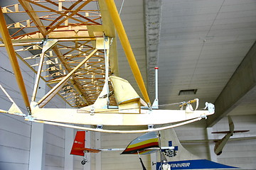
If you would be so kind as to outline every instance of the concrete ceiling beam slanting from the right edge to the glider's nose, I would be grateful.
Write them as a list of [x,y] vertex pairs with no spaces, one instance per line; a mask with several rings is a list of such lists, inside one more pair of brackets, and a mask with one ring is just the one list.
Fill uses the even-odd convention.
[[245,100],[256,89],[256,42],[250,48],[238,69],[215,101],[215,113],[208,116],[207,126],[212,127]]

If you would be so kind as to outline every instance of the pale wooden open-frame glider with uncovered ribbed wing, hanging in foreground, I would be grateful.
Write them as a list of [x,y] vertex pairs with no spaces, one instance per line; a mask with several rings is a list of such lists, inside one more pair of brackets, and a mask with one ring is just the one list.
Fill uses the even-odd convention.
[[[181,108],[186,109],[159,110],[156,97],[151,106],[114,0],[18,2],[1,7],[3,43],[0,47],[5,47],[9,55],[27,113],[21,113],[13,100],[9,111],[0,110],[1,113],[21,115],[32,122],[98,132],[163,130],[214,113],[213,104],[207,102],[204,110],[193,108],[192,103],[198,104],[198,99],[181,102]],[[13,21],[6,23],[4,15]],[[127,80],[117,77],[115,32],[144,100]],[[17,57],[36,74],[31,99]],[[49,89],[44,95],[38,94],[40,84]],[[46,108],[56,95],[73,108]],[[92,125],[92,128],[79,125]],[[119,126],[127,128],[121,130]],[[131,126],[145,128],[132,130]]]

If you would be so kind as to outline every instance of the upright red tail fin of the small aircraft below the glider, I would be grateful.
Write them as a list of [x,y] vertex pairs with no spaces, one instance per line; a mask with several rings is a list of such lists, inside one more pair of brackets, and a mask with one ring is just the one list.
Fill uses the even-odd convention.
[[73,142],[73,146],[70,154],[84,156],[85,149],[85,131],[78,131],[75,135],[75,140]]

